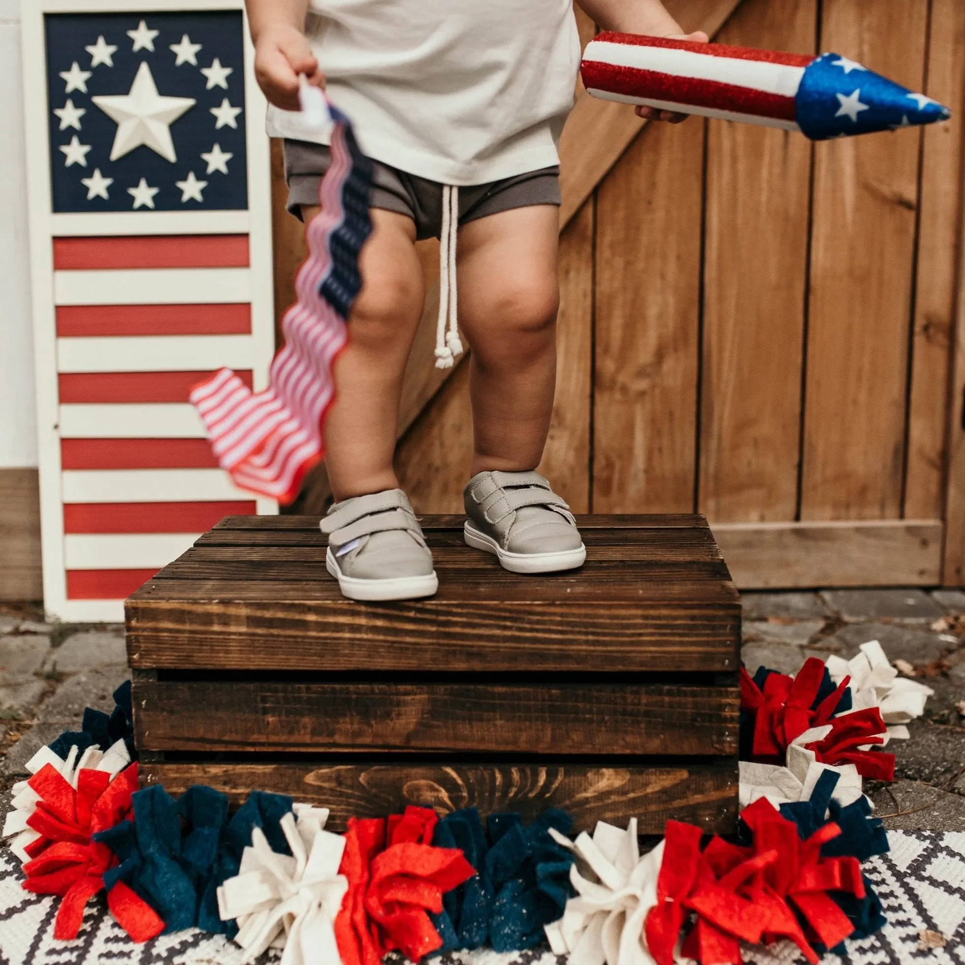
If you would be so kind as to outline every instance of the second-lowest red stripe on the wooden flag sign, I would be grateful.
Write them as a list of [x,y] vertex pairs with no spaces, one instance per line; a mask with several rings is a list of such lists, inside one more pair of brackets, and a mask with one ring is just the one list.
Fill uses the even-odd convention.
[[65,533],[206,533],[225,516],[254,516],[237,503],[67,503]]

